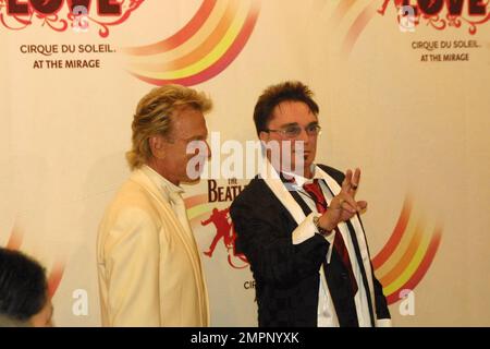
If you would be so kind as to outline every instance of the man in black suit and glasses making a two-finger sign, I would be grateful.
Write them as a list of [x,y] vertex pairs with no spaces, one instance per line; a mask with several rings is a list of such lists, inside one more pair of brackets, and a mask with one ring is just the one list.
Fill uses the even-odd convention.
[[256,280],[259,326],[390,326],[356,201],[360,171],[314,163],[318,105],[299,82],[268,87],[254,111],[265,166],[231,206]]

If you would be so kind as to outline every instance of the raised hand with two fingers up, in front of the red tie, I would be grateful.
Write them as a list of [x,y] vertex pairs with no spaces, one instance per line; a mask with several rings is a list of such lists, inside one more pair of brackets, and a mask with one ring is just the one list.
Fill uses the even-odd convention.
[[352,170],[347,170],[340,193],[332,198],[329,208],[318,220],[321,228],[332,231],[340,222],[346,221],[355,214],[366,209],[367,202],[355,201],[359,180],[360,170],[358,168],[356,168],[354,174]]

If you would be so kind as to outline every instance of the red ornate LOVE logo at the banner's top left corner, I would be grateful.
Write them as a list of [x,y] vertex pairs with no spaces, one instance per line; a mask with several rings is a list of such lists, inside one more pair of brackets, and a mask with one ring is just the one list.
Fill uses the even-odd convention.
[[56,32],[87,32],[91,25],[101,37],[109,27],[125,22],[145,0],[0,0],[0,23],[8,29],[24,29],[36,22]]

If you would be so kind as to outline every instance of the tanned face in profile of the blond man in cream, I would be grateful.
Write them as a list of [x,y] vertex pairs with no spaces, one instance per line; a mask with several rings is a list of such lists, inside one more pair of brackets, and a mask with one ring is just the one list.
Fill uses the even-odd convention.
[[[209,145],[206,142],[208,129],[203,112],[185,108],[172,116],[170,134],[161,140],[161,148],[154,151],[152,167],[171,182],[192,182],[196,178],[192,174],[203,171],[203,161],[193,168],[193,173],[187,173],[187,163],[196,156],[196,153],[187,154],[187,145],[197,141],[207,147],[207,156],[210,156]],[[203,152],[201,152],[203,153]],[[200,153],[199,153],[200,154]],[[200,155],[203,156],[203,155]],[[191,174],[191,177],[189,177]]]

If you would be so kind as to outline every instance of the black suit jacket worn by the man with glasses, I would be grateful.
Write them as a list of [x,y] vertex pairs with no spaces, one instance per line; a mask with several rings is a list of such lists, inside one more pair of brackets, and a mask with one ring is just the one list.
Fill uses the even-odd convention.
[[[320,166],[335,181],[342,183],[344,174],[331,167]],[[297,193],[291,192],[293,197]],[[309,208],[295,197],[305,214]],[[319,269],[323,265],[329,243],[320,234],[315,234],[299,244],[292,242],[292,232],[297,227],[290,212],[279,201],[267,183],[254,178],[235,198],[230,214],[236,231],[236,251],[244,253],[250,263],[256,280],[259,326],[317,326]],[[351,237],[355,240],[353,227],[348,224]],[[362,266],[357,240],[353,241]],[[372,268],[371,268],[372,269]],[[363,284],[367,277],[375,286],[376,312],[378,318],[389,318],[382,286],[371,274],[366,276],[362,267]],[[348,294],[350,282],[342,263],[332,254],[327,270],[332,301],[341,325],[355,326],[353,298]],[[368,293],[368,303],[372,301]],[[370,306],[372,310],[372,306]],[[375,315],[371,312],[375,324]]]

